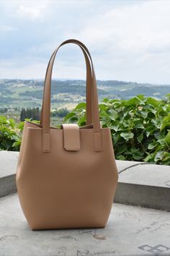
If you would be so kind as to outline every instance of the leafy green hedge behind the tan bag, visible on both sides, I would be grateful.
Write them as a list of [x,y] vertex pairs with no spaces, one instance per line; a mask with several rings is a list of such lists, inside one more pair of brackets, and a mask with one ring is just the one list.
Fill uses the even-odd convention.
[[[110,127],[115,157],[170,165],[170,95],[166,101],[138,95],[130,100],[104,98],[99,104],[103,127]],[[79,103],[65,122],[86,124],[86,103]],[[24,122],[0,116],[0,150],[19,150]]]

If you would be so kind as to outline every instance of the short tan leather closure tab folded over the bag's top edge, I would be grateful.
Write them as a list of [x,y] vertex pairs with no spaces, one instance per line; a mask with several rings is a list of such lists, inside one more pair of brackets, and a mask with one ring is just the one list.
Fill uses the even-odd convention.
[[63,124],[63,143],[66,150],[77,151],[80,149],[80,132],[78,124]]

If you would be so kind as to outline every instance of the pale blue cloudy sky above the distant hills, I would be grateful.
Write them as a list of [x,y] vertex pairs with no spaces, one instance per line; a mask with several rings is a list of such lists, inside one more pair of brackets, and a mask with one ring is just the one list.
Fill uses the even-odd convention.
[[[170,84],[170,0],[0,1],[0,78],[39,79],[69,38],[98,80]],[[86,79],[81,49],[58,51],[53,78]]]

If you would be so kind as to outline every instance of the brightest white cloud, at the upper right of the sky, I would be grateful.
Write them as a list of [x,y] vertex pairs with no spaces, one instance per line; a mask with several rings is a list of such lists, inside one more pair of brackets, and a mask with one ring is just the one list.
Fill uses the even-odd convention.
[[106,50],[113,46],[132,53],[170,43],[170,1],[135,3],[94,15],[77,36],[91,46],[104,45]]

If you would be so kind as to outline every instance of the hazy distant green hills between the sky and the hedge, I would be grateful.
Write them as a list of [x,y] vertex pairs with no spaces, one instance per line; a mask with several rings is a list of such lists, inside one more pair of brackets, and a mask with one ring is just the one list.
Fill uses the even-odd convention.
[[[16,121],[23,121],[23,108],[42,106],[43,80],[0,80],[0,114],[5,114]],[[99,102],[103,98],[125,99],[135,95],[145,95],[157,100],[166,99],[170,85],[152,85],[149,83],[124,82],[116,80],[97,80]],[[73,110],[78,103],[86,101],[85,80],[53,80],[51,88],[51,112],[53,124]],[[56,112],[59,111],[59,112]],[[37,116],[36,119],[39,119]]]

